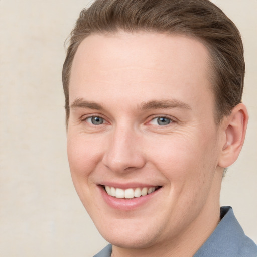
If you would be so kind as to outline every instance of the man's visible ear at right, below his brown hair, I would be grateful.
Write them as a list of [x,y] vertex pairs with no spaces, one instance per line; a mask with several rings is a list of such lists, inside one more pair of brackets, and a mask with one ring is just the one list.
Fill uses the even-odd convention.
[[248,113],[243,103],[237,104],[221,124],[223,137],[222,151],[218,165],[226,168],[237,159],[245,138]]

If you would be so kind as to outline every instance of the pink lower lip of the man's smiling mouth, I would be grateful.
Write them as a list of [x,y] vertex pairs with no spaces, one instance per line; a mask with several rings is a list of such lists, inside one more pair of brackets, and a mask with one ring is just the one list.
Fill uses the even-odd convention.
[[131,211],[139,208],[140,206],[146,204],[148,201],[151,201],[151,199],[158,194],[158,192],[161,190],[161,188],[157,189],[153,193],[146,195],[146,196],[140,196],[137,198],[132,199],[124,199],[124,198],[116,198],[113,196],[110,196],[106,193],[104,188],[102,186],[99,186],[101,190],[101,195],[105,202],[112,208],[123,210],[123,211]]

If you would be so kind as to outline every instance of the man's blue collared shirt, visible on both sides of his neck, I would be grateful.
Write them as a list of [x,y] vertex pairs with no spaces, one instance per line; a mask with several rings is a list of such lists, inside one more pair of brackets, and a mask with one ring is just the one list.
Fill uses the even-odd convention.
[[[221,221],[193,257],[257,257],[257,245],[247,237],[231,207],[221,207]],[[110,257],[111,244],[94,257]]]

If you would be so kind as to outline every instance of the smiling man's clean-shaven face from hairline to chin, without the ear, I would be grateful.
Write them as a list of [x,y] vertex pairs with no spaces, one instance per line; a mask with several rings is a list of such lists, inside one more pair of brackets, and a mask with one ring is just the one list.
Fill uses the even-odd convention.
[[76,191],[110,243],[179,240],[216,214],[222,172],[208,75],[206,48],[185,36],[120,32],[80,44],[68,159]]

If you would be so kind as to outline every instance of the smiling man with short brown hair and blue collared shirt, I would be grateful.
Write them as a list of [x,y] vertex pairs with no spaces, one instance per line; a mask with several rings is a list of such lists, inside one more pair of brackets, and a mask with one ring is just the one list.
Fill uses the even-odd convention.
[[207,0],[98,0],[81,12],[63,67],[68,159],[102,236],[96,256],[257,256],[230,207],[243,47]]

